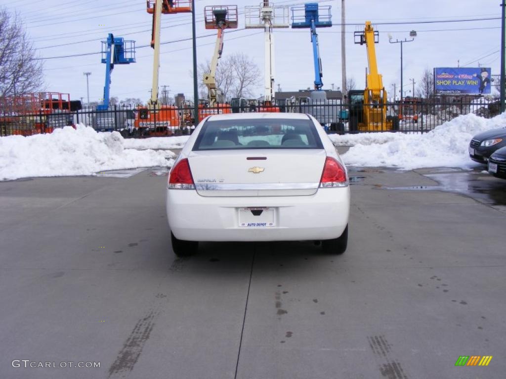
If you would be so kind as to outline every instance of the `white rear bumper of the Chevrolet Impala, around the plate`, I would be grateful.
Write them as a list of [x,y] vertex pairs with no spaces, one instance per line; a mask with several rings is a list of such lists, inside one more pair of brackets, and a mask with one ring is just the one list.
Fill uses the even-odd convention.
[[[167,189],[166,211],[184,241],[303,241],[338,238],[348,224],[350,187],[320,188],[311,196],[203,197]],[[241,227],[238,208],[273,207],[275,226]]]

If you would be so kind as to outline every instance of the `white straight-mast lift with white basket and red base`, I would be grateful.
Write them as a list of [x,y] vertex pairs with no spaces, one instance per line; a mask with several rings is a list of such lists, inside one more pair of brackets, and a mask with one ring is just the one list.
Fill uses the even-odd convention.
[[288,28],[288,6],[275,7],[264,0],[260,6],[244,7],[245,27],[247,29],[264,29],[264,102],[259,112],[279,112],[279,107],[272,105],[274,99],[274,35],[273,28]]

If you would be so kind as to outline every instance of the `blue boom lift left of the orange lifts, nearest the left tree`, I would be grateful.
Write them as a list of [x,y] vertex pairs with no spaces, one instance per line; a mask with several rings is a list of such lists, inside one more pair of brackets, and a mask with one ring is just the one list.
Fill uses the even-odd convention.
[[111,73],[114,65],[127,65],[135,63],[135,41],[114,37],[109,33],[107,39],[102,41],[102,63],[105,63],[105,85],[102,104],[97,105],[97,112],[92,115],[92,125],[95,130],[110,131],[119,129],[132,129],[135,116],[130,111],[109,112],[109,96],[111,86]]

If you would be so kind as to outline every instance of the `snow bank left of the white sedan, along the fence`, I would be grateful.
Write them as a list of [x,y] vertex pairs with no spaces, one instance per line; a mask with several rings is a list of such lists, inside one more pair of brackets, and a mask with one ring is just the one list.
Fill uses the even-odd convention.
[[104,170],[172,166],[169,151],[125,149],[118,132],[97,133],[79,124],[51,134],[0,138],[0,180],[35,176],[94,175]]

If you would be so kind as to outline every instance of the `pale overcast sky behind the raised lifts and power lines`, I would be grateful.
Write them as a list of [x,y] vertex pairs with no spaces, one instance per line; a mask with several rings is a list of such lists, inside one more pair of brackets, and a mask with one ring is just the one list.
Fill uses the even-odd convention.
[[[136,41],[137,63],[117,65],[112,73],[111,96],[119,99],[149,98],[152,80],[153,50],[151,15],[146,12],[144,0],[12,0],[5,2],[8,10],[16,11],[38,49],[39,57],[50,58],[100,52],[102,39],[108,33]],[[258,0],[235,2],[239,10],[238,29],[244,28],[244,6],[256,6]],[[319,42],[323,65],[324,89],[341,87],[341,0],[321,1],[331,6],[331,28],[320,28]],[[197,19],[197,60],[204,63],[213,54],[215,32],[206,30],[203,9],[208,5],[228,5],[231,1],[195,0]],[[279,0],[275,5],[304,4],[297,0]],[[404,90],[412,88],[409,81],[417,82],[425,68],[460,66],[491,67],[492,75],[500,67],[500,6],[498,0],[346,0],[346,57],[347,75],[357,87],[365,85],[367,56],[365,46],[354,44],[353,32],[363,29],[370,20],[379,31],[376,44],[378,70],[390,93],[392,84],[400,87],[400,43],[393,39],[409,38],[416,30],[413,42],[403,44]],[[466,22],[439,22],[468,19],[493,20]],[[438,22],[435,22],[438,21]],[[170,94],[183,92],[193,97],[191,14],[162,15],[161,19],[160,90],[170,86]],[[396,23],[396,24],[387,24]],[[409,24],[399,24],[409,23]],[[357,24],[357,25],[355,25]],[[207,36],[210,35],[210,36]],[[313,56],[309,29],[277,29],[275,38],[275,80],[282,90],[313,87]],[[164,43],[166,42],[166,43]],[[60,46],[55,46],[60,45]],[[140,46],[148,47],[140,47]],[[54,46],[54,47],[49,47]],[[223,56],[243,52],[264,68],[264,38],[260,29],[226,32]],[[46,90],[68,92],[71,99],[83,97],[86,102],[86,77],[91,72],[90,100],[103,97],[105,65],[100,54],[44,60]],[[199,78],[200,80],[200,78]],[[258,97],[263,94],[263,78],[259,80]]]

